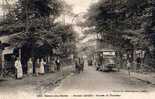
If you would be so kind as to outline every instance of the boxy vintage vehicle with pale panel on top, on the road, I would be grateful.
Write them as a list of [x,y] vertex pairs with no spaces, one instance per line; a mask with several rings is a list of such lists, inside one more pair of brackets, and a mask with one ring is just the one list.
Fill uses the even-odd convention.
[[116,69],[115,58],[114,50],[96,51],[96,70],[114,71]]

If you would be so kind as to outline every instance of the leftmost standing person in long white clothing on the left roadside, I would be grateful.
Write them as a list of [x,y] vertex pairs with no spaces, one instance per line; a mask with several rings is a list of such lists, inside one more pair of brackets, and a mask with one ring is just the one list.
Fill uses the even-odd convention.
[[21,64],[19,57],[15,61],[15,68],[16,68],[17,79],[21,79],[23,77],[23,70],[22,70],[22,64]]

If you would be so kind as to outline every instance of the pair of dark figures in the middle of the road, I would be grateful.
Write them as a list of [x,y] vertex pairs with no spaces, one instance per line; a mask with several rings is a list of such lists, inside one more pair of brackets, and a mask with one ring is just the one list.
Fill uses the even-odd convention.
[[75,59],[75,71],[80,73],[84,71],[84,59],[79,57]]

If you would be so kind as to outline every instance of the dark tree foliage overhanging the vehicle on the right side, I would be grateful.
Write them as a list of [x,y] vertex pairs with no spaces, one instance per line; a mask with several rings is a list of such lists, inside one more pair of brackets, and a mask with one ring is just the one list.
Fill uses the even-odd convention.
[[[100,0],[88,12],[88,26],[118,48],[145,47],[150,0]],[[145,45],[145,46],[144,46]]]

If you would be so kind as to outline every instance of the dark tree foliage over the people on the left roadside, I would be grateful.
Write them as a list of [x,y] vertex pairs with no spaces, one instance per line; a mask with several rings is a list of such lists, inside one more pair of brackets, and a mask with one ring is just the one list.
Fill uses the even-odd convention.
[[24,47],[31,56],[52,54],[53,49],[61,49],[64,43],[65,50],[72,49],[75,36],[71,26],[55,22],[64,4],[59,0],[19,0],[1,22],[0,31],[5,35],[14,34],[10,43]]

